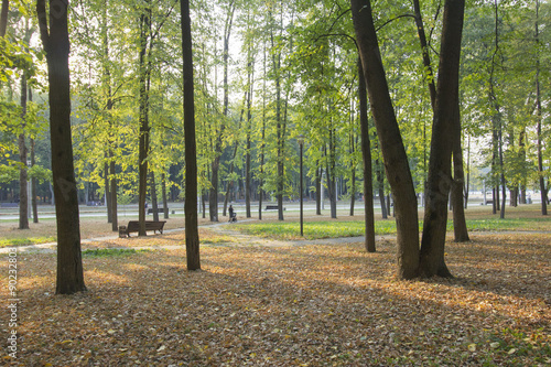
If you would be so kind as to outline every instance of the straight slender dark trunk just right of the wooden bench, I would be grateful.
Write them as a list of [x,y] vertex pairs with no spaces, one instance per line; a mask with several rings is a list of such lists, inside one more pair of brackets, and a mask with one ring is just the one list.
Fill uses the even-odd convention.
[[182,58],[184,78],[185,136],[185,252],[187,270],[199,270],[199,234],[197,227],[197,148],[195,142],[195,105],[193,90],[192,30],[190,1],[181,0]]

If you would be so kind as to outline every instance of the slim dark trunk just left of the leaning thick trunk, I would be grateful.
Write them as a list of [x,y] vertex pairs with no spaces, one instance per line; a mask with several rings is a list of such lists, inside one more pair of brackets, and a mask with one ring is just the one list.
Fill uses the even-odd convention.
[[364,207],[366,220],[367,252],[375,252],[375,214],[374,214],[374,188],[371,175],[371,143],[369,140],[369,120],[367,117],[367,90],[361,68],[361,60],[358,58],[358,99],[359,99],[359,125],[361,128],[361,155],[364,156]]

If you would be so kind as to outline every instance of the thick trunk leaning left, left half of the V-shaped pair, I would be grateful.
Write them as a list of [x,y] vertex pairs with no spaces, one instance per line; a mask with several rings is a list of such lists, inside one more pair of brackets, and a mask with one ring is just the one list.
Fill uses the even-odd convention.
[[417,196],[388,84],[380,58],[371,4],[350,0],[356,41],[380,140],[387,177],[392,187],[397,214],[398,277],[411,279],[419,268],[419,222]]

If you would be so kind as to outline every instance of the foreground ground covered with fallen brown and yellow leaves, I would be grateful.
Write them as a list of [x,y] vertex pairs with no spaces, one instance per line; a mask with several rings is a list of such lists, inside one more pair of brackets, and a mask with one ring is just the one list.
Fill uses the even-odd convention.
[[[214,230],[214,229],[213,229]],[[54,295],[55,255],[18,255],[20,366],[547,366],[551,235],[449,242],[455,279],[399,281],[396,244],[258,244],[203,231],[85,245],[87,292]],[[125,246],[126,244],[126,246]],[[137,249],[138,248],[138,249]],[[8,262],[0,262],[8,299]],[[4,309],[6,310],[6,309]],[[6,311],[3,311],[6,312]],[[7,317],[1,330],[9,332]],[[8,335],[8,333],[6,333]]]

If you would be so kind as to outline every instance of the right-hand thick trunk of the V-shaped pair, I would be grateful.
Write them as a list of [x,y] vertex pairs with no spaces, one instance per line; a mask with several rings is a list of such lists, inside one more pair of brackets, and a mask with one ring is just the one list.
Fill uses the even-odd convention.
[[[451,277],[444,262],[447,197],[451,186],[451,158],[454,128],[458,121],[460,55],[464,0],[446,0],[436,86],[436,104],[426,180],[420,274]],[[395,201],[396,203],[396,201]],[[461,207],[463,207],[461,205]]]

